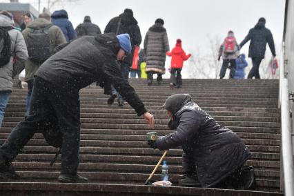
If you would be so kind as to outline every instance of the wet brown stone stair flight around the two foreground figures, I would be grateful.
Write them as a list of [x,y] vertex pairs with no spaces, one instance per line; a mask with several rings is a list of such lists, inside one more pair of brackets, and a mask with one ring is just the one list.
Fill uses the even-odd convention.
[[[280,193],[280,110],[277,108],[277,80],[184,79],[183,88],[170,89],[168,80],[147,86],[146,80],[130,79],[149,112],[155,115],[155,129],[150,130],[142,117],[128,104],[115,100],[107,105],[103,89],[91,85],[80,92],[81,146],[79,173],[88,184],[57,182],[60,157],[49,166],[56,148],[48,146],[36,134],[14,161],[19,180],[0,182],[0,195],[283,195]],[[172,133],[166,126],[168,115],[161,108],[175,93],[188,93],[193,101],[222,126],[231,128],[250,148],[253,156],[246,162],[255,168],[255,191],[177,186],[181,177],[182,149],[170,149],[166,156],[171,187],[145,186],[144,182],[163,152],[146,144],[146,133]],[[3,144],[17,122],[23,120],[26,90],[14,88],[5,119],[0,128]],[[160,180],[161,169],[152,182]]]

